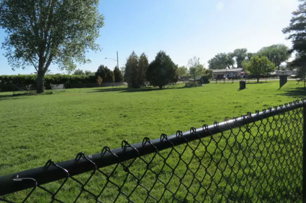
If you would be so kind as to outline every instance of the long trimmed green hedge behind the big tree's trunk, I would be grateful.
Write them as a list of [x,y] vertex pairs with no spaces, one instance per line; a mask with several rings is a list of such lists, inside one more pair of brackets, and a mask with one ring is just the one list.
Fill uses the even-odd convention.
[[[0,75],[0,91],[13,91],[13,85],[36,84],[37,75]],[[89,75],[45,75],[45,88],[50,89],[50,84],[65,84],[70,88],[71,84],[96,83],[96,76]]]

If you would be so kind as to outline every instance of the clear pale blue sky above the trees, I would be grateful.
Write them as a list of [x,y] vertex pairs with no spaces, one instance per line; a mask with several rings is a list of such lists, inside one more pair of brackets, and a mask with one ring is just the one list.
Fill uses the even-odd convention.
[[[188,59],[199,57],[207,61],[220,52],[247,48],[256,52],[264,46],[283,43],[282,29],[288,26],[298,0],[100,0],[99,11],[105,16],[105,26],[97,43],[101,52],[90,52],[90,64],[78,65],[83,70],[96,71],[100,64],[113,69],[116,51],[119,66],[134,50],[145,52],[149,61],[159,50],[166,51],[175,64],[186,65]],[[5,37],[0,30],[0,42]],[[0,51],[0,75],[28,74],[34,68],[12,71]],[[57,65],[52,73],[62,73]]]

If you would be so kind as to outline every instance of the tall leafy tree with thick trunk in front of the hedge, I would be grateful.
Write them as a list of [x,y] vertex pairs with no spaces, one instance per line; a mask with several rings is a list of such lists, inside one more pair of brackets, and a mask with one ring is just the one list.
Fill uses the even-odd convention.
[[98,0],[1,0],[0,27],[7,37],[2,43],[12,68],[34,66],[37,93],[44,91],[44,76],[52,62],[73,71],[75,62],[86,63],[87,50],[103,26]]

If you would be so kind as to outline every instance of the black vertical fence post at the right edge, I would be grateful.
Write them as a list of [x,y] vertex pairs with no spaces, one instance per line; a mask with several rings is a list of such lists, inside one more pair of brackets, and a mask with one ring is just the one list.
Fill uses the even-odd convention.
[[303,203],[306,203],[306,106],[303,106],[303,184],[302,195]]

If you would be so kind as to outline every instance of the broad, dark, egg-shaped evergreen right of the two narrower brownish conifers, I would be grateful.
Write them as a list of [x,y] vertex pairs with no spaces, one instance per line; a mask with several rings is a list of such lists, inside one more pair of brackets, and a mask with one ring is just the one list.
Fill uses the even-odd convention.
[[159,51],[150,63],[146,77],[147,80],[160,89],[165,85],[177,81],[177,66],[165,51]]

